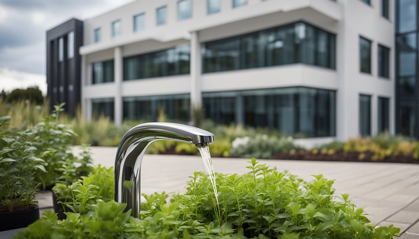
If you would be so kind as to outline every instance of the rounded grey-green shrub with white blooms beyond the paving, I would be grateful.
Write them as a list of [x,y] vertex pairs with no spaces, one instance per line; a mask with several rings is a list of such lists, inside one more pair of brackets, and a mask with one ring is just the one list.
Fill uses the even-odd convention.
[[294,145],[291,137],[267,136],[266,134],[236,138],[231,144],[233,146],[230,149],[231,156],[243,158],[253,155],[258,159],[270,159],[276,153],[302,149]]

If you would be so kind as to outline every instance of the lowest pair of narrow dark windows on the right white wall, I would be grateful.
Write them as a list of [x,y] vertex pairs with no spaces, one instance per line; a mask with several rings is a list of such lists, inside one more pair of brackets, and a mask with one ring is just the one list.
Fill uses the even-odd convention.
[[[359,130],[361,136],[371,135],[371,95],[360,95]],[[390,126],[390,99],[378,97],[378,132],[388,131]]]

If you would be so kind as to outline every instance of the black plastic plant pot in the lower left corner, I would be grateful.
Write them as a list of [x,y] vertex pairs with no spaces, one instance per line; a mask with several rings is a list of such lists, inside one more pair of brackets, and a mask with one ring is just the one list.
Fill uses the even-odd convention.
[[26,211],[0,213],[0,231],[7,231],[22,227],[39,219],[39,206]]

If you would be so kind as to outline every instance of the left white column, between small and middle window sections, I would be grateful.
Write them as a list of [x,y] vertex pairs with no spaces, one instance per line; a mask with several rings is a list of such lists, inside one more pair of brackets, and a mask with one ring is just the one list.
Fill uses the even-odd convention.
[[116,125],[122,124],[122,49],[120,46],[114,49],[114,120]]

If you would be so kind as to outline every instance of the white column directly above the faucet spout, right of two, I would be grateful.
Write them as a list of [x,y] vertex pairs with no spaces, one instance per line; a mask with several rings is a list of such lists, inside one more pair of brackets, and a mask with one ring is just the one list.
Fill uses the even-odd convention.
[[191,32],[191,111],[194,107],[202,105],[201,93],[201,44],[198,32]]

